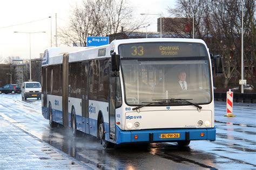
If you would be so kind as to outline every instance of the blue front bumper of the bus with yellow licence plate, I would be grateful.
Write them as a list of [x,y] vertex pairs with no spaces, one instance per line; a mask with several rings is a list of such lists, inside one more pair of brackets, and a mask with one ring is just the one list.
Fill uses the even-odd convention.
[[[164,135],[163,135],[164,134]],[[174,135],[176,134],[176,135]],[[177,138],[177,134],[178,138]],[[165,136],[165,138],[163,138]],[[137,139],[136,139],[137,138]],[[122,143],[156,143],[181,140],[210,140],[216,139],[216,129],[165,129],[165,130],[134,130],[122,131],[117,127],[117,144]]]

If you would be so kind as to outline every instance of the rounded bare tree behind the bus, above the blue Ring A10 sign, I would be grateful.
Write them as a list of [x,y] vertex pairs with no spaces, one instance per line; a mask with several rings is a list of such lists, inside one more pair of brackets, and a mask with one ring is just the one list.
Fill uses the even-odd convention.
[[79,42],[85,46],[88,36],[116,34],[121,27],[135,31],[144,22],[134,20],[132,12],[125,0],[84,0],[72,10],[70,25],[61,30],[60,37],[65,45]]

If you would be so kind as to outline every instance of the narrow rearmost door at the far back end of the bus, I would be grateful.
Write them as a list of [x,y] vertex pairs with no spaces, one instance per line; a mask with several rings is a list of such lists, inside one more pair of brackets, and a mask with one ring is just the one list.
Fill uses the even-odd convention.
[[47,68],[43,67],[42,70],[42,76],[43,76],[43,83],[42,83],[42,87],[43,87],[43,115],[45,118],[49,119],[49,114],[48,114],[48,109],[47,109]]

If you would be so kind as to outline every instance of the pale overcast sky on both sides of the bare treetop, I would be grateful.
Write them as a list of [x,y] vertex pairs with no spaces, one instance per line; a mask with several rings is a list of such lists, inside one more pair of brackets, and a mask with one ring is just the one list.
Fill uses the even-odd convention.
[[[117,0],[118,1],[118,0]],[[31,34],[31,58],[39,58],[39,53],[43,53],[51,46],[51,20],[52,35],[55,35],[55,13],[57,13],[57,27],[65,26],[68,23],[70,10],[76,3],[82,0],[3,0],[0,1],[0,58],[8,56],[20,56],[22,59],[29,59],[29,34],[18,32],[42,32]],[[163,17],[168,17],[167,6],[173,7],[176,0],[130,0],[134,8],[134,16],[139,13],[161,13]],[[157,31],[158,16],[148,16],[147,30]],[[39,20],[38,22],[32,22]],[[28,23],[32,22],[32,23]],[[28,23],[18,25],[22,23]],[[17,26],[11,26],[17,25]],[[141,30],[146,31],[146,30]],[[52,37],[53,46],[55,37]],[[58,41],[59,46],[63,46]]]

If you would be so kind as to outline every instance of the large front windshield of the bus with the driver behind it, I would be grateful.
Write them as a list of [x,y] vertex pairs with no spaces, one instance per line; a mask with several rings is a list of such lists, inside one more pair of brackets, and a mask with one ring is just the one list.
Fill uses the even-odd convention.
[[154,52],[150,57],[135,58],[122,54],[121,48],[120,55],[127,104],[139,105],[171,98],[190,99],[198,104],[211,102],[210,61],[206,53],[200,54],[202,56],[193,53],[185,56],[184,53],[182,56],[163,57]]

